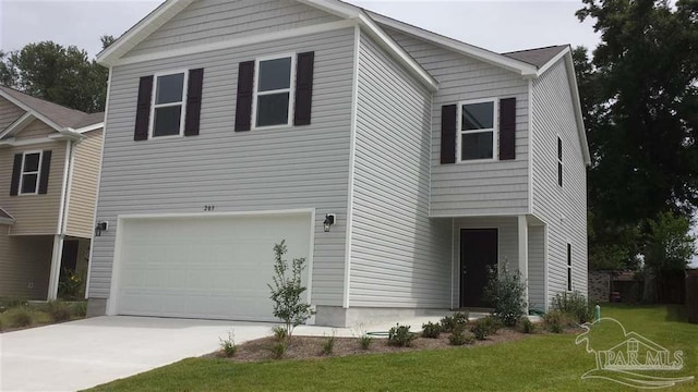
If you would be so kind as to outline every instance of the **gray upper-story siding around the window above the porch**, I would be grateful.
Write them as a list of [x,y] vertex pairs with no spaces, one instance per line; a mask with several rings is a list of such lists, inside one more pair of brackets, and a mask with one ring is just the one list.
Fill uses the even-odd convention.
[[[504,69],[385,28],[440,83],[432,111],[431,216],[528,212],[528,82]],[[512,97],[516,98],[517,113],[515,160],[441,164],[442,106]]]

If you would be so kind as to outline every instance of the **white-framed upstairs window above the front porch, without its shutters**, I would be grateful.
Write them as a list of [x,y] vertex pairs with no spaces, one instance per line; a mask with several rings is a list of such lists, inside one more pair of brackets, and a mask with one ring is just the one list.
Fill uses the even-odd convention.
[[496,135],[495,99],[458,105],[458,158],[460,161],[494,159]]

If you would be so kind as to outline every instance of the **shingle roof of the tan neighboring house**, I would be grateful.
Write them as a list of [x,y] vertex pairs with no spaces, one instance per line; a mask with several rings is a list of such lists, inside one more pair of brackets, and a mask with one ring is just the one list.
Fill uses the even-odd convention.
[[31,95],[20,93],[7,86],[0,86],[0,90],[62,127],[76,128],[104,121],[104,113],[87,114],[80,110],[69,109],[44,99],[32,97]]

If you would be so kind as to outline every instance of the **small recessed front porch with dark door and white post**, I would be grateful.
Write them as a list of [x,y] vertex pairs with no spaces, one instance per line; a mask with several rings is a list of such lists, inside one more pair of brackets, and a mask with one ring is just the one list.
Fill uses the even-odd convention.
[[533,216],[454,218],[452,308],[482,309],[489,270],[519,271],[530,310],[547,310],[546,225]]

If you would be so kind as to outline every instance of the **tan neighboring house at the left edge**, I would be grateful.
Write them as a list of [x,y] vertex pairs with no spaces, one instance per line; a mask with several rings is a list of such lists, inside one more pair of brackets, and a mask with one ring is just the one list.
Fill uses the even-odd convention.
[[104,113],[0,86],[0,297],[55,299],[86,274]]

